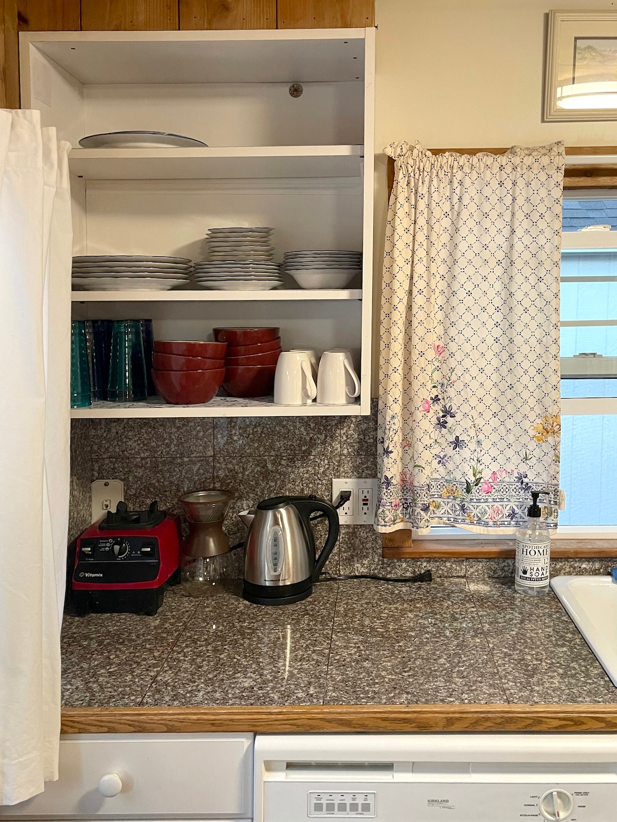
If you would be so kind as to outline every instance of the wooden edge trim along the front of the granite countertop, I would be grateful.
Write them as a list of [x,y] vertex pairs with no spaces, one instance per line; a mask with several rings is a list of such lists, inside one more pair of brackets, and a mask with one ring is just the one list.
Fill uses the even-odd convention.
[[61,732],[617,732],[617,704],[65,708]]

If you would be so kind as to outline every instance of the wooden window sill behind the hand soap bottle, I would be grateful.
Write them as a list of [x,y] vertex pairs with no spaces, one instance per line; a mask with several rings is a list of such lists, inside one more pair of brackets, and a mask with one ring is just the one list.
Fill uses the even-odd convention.
[[[414,539],[411,531],[401,529],[382,535],[384,559],[503,559],[514,556],[513,539]],[[555,559],[609,559],[617,557],[617,539],[559,539],[550,541],[550,556]]]

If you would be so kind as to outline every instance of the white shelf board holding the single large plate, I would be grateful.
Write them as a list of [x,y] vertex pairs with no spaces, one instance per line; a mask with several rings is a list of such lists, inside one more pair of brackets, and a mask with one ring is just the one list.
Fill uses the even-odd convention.
[[360,178],[363,145],[257,145],[207,149],[79,149],[69,168],[86,180]]

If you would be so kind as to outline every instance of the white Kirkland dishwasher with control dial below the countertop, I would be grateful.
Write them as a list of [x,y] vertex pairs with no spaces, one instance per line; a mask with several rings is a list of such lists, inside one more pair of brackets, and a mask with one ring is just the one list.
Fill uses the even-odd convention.
[[285,734],[255,741],[254,822],[617,820],[617,734]]

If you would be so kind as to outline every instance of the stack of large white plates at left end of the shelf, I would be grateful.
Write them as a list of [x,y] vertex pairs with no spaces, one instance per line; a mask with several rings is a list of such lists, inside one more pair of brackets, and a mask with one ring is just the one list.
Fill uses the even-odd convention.
[[188,283],[187,257],[100,254],[73,257],[72,287],[85,291],[168,291]]

